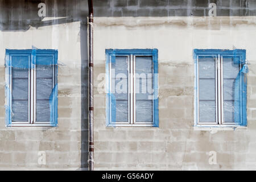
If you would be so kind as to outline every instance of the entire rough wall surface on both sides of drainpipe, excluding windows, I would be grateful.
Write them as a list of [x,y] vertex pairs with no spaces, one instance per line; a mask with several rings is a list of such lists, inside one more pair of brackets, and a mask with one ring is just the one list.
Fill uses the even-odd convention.
[[[45,2],[42,21],[38,4]],[[96,169],[255,169],[256,3],[254,0],[94,0],[94,135]],[[208,4],[217,16],[207,19]],[[87,167],[87,25],[85,0],[0,0],[0,168]],[[154,18],[162,16],[163,18]],[[176,17],[174,17],[176,16]],[[187,16],[187,17],[179,17]],[[193,18],[193,16],[203,16]],[[250,16],[229,18],[229,16]],[[75,22],[75,23],[74,23]],[[5,127],[6,48],[59,49],[59,127]],[[193,125],[193,48],[244,48],[250,61],[247,129],[196,130]],[[105,73],[106,48],[159,49],[159,128],[105,127],[105,95],[97,79]],[[71,77],[72,75],[72,77]],[[217,152],[209,165],[207,152]],[[38,164],[46,151],[46,165]]]

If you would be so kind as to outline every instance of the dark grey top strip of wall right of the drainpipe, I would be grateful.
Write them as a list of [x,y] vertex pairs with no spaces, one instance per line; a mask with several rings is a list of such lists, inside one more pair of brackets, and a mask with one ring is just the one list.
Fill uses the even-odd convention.
[[96,16],[208,16],[216,3],[218,16],[254,16],[253,0],[109,0],[94,1]]

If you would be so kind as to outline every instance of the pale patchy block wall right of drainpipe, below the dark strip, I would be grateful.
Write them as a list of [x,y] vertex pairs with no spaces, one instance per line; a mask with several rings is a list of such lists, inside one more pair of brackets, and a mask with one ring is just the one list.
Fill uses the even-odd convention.
[[[102,81],[100,73],[105,73],[105,49],[157,48],[159,51],[159,128],[106,127],[105,94],[101,88],[95,88],[96,169],[256,169],[255,22],[252,17],[225,16],[96,18],[95,86]],[[250,61],[247,128],[193,127],[193,49],[234,47],[246,49]],[[217,164],[209,164],[210,151],[216,152]]]

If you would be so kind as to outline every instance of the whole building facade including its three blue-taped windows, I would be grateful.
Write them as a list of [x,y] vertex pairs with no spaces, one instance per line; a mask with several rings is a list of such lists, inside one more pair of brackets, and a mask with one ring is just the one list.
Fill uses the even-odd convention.
[[[93,6],[95,169],[255,169],[256,3]],[[87,169],[87,16],[87,1],[1,1],[1,169]],[[40,61],[46,50],[57,61]],[[34,71],[41,66],[44,77]],[[54,84],[36,87],[49,77]],[[17,84],[15,94],[15,79],[30,86]],[[15,105],[24,92],[27,111]],[[51,126],[35,127],[39,117]]]

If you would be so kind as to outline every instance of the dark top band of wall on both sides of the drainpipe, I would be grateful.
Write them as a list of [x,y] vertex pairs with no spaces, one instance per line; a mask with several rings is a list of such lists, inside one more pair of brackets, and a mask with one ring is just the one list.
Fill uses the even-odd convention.
[[[46,3],[42,22],[38,4]],[[254,0],[94,0],[94,16],[208,16],[209,3],[216,3],[217,16],[255,16]],[[57,23],[86,22],[86,0],[0,0],[0,30],[28,30]]]

